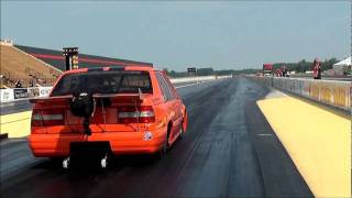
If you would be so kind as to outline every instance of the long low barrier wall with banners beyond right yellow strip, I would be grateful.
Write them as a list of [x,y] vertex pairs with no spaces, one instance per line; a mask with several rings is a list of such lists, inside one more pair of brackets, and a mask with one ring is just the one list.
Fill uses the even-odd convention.
[[351,111],[351,81],[315,80],[283,77],[254,77],[251,78],[298,96],[312,99],[342,110]]

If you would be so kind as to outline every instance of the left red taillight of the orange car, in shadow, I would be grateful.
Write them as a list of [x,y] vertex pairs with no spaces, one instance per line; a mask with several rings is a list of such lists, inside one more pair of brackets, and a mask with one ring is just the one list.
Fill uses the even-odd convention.
[[64,111],[62,110],[33,110],[32,125],[64,125]]

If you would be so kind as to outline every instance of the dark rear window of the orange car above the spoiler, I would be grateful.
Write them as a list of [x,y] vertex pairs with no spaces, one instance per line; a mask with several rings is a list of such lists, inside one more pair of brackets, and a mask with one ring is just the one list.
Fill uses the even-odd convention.
[[153,94],[148,72],[88,72],[67,74],[61,78],[52,96],[73,95],[75,92],[92,94]]

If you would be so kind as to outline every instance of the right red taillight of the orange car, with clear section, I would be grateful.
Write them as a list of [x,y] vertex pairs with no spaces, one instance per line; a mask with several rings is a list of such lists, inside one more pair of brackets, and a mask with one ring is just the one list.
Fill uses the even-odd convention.
[[121,107],[118,109],[120,123],[151,123],[155,122],[154,110],[151,106]]

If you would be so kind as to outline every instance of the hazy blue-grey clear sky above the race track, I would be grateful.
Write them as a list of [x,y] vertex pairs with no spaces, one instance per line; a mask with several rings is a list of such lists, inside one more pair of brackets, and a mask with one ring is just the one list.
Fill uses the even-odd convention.
[[1,38],[153,63],[260,68],[351,55],[350,1],[1,1]]

